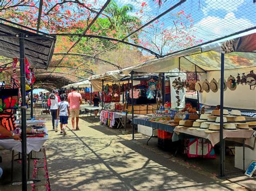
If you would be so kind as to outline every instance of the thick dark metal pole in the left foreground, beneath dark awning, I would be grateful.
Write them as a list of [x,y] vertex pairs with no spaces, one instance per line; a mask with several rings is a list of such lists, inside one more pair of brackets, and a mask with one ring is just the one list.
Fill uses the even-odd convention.
[[19,64],[21,67],[21,127],[22,127],[22,190],[27,190],[26,185],[26,73],[25,73],[25,47],[22,33],[19,35]]

